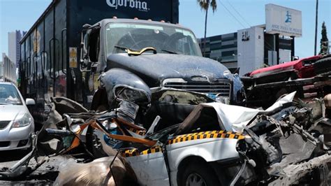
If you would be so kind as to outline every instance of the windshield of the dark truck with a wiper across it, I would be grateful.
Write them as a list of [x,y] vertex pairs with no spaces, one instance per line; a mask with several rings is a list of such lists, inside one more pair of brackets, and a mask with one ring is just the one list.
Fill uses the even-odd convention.
[[202,56],[194,34],[175,25],[112,22],[105,37],[108,55],[153,47],[158,53]]

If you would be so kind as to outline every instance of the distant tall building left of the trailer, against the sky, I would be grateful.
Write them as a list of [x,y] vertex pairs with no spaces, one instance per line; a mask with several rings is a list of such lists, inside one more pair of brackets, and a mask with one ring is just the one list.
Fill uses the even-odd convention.
[[18,68],[18,62],[20,61],[20,40],[27,31],[10,31],[8,32],[8,57],[15,63]]

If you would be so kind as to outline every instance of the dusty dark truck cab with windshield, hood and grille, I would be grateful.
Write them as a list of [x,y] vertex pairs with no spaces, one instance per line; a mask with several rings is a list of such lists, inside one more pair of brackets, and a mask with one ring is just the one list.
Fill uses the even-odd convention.
[[[105,84],[135,87],[171,87],[208,94],[215,100],[244,104],[244,89],[237,75],[213,59],[202,57],[190,29],[179,24],[152,20],[105,19],[84,25],[81,71],[92,110],[107,108]],[[117,80],[98,81],[105,73],[118,73]],[[133,78],[135,77],[135,78]],[[114,85],[115,85],[114,84]],[[109,102],[108,102],[109,103]]]

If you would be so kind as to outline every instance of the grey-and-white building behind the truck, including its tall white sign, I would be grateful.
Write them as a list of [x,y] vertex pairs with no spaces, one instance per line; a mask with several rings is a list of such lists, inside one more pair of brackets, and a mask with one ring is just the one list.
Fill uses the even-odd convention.
[[221,62],[232,73],[243,76],[297,58],[295,37],[301,36],[301,11],[269,3],[265,5],[265,24],[211,36],[206,42],[201,38],[199,43],[205,57]]

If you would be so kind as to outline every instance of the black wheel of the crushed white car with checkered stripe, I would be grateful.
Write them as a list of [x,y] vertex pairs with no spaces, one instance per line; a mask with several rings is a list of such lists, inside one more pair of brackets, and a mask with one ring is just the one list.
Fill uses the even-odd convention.
[[[207,163],[190,162],[182,175],[179,175],[179,186],[189,186],[190,183],[201,183],[202,186],[219,186],[219,180],[216,173]],[[193,184],[192,184],[193,185]]]

